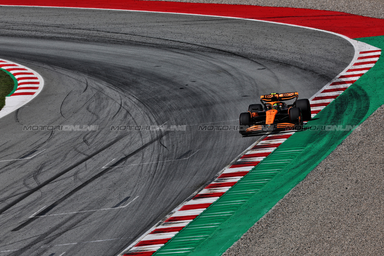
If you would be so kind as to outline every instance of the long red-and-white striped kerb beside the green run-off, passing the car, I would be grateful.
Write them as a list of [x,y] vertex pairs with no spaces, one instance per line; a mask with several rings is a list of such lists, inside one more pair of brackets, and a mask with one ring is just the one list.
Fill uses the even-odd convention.
[[[343,72],[310,98],[312,117],[371,69],[381,55],[381,49],[379,48],[349,38],[346,39],[354,46],[354,58]],[[295,131],[267,135],[254,143],[235,159],[232,164],[225,167],[214,181],[195,193],[192,199],[179,205],[166,217],[166,220],[152,227],[146,234],[120,253],[119,256],[150,256],[154,254],[293,133]]]

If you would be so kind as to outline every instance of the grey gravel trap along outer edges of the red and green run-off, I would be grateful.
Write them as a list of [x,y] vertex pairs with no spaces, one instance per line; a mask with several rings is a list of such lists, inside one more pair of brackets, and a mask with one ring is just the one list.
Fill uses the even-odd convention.
[[[193,0],[384,18],[382,0]],[[223,256],[384,255],[384,105]]]

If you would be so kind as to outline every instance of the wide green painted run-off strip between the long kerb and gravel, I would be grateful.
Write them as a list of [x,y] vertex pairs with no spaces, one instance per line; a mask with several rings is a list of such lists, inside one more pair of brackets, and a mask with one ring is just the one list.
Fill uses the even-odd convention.
[[[384,49],[384,36],[358,38]],[[384,104],[384,57],[308,125],[361,124]],[[302,181],[351,131],[296,132],[154,255],[219,256]]]

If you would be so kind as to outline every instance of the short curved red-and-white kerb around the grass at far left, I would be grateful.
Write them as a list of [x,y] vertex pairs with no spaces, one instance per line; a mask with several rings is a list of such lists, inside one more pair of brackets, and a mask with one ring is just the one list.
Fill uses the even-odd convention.
[[35,98],[43,89],[44,80],[36,71],[12,61],[0,59],[0,68],[10,72],[17,80],[15,92],[5,97],[5,106],[0,110],[1,118]]

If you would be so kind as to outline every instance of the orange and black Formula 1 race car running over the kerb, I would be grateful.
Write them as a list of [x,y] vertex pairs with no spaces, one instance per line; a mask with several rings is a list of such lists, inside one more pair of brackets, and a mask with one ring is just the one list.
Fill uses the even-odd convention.
[[[252,104],[248,112],[240,114],[240,133],[250,135],[269,131],[300,130],[303,121],[311,119],[308,99],[300,99],[297,92],[272,93],[260,96],[262,104]],[[287,105],[283,100],[295,100]]]

